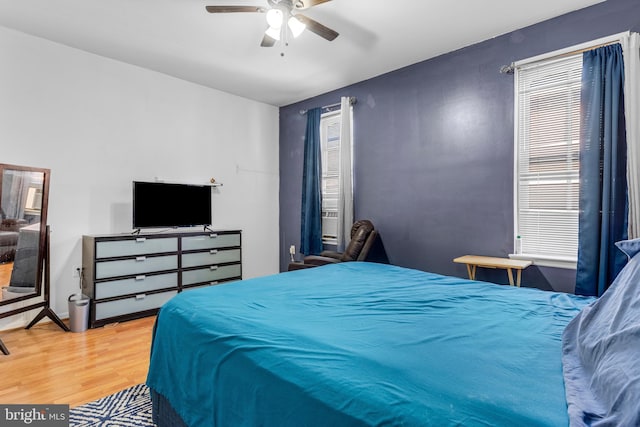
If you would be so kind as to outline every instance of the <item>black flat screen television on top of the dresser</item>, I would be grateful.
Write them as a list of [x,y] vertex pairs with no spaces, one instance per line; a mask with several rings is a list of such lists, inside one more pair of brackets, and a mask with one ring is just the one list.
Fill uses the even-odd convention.
[[211,225],[211,187],[133,182],[133,228]]

